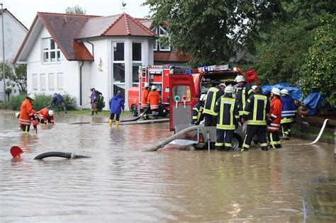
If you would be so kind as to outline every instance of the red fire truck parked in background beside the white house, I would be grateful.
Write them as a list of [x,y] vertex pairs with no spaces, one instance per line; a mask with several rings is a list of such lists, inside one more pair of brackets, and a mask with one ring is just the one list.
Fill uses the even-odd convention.
[[188,67],[177,67],[169,64],[140,66],[139,85],[128,90],[128,108],[134,116],[138,116],[142,91],[145,89],[145,83],[150,86],[157,86],[157,91],[161,96],[161,105],[159,115],[165,117],[169,114],[169,74],[186,74]]

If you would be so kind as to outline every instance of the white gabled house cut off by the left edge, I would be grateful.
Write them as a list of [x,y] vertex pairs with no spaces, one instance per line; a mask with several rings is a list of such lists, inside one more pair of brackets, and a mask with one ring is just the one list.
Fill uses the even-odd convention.
[[[4,9],[4,45],[5,45],[5,61],[11,62],[18,52],[18,48],[21,45],[23,38],[25,38],[28,29],[23,25],[18,19],[13,16],[13,14]],[[0,11],[0,27],[2,25],[2,12]],[[3,49],[2,49],[2,27],[0,28],[0,63],[4,61],[3,59]],[[2,69],[1,69],[2,75]],[[17,88],[12,91],[12,94],[18,94]],[[0,81],[0,100],[4,100],[4,81]]]

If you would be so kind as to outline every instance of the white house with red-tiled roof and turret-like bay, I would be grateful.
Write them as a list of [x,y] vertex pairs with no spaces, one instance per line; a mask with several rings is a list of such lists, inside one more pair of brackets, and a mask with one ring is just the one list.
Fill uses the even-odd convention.
[[[150,24],[127,13],[38,13],[13,63],[27,64],[28,93],[66,92],[89,108],[90,88],[103,93],[106,105],[120,90],[127,105],[128,88],[138,85],[138,66],[155,63],[153,46],[159,35]],[[156,53],[172,54],[170,47]]]

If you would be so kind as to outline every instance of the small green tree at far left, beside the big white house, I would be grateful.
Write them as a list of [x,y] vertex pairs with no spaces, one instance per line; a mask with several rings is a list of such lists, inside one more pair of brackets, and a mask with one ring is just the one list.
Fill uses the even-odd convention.
[[[3,64],[0,64],[0,69],[2,71]],[[18,86],[18,91],[26,93],[27,90],[27,66],[26,64],[17,64],[13,65],[9,62],[6,62],[5,66],[6,74],[6,85],[7,86]],[[2,76],[1,76],[2,80]]]

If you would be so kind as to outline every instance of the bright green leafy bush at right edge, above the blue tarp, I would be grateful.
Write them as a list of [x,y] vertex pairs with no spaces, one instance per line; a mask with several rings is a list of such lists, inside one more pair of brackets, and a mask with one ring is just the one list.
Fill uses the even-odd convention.
[[314,30],[314,44],[309,47],[300,71],[300,87],[304,96],[318,87],[325,99],[336,107],[336,15],[326,14],[320,22],[325,25]]

